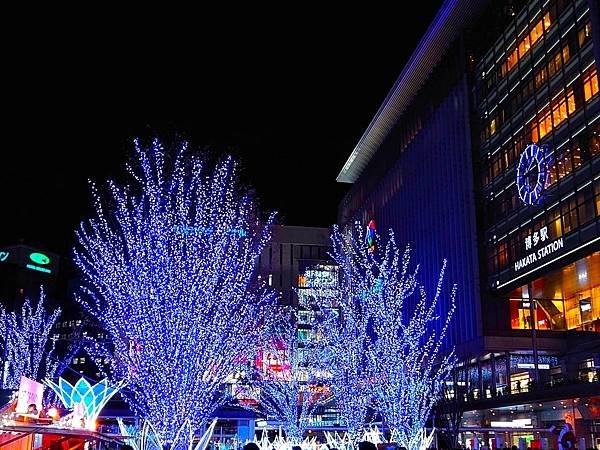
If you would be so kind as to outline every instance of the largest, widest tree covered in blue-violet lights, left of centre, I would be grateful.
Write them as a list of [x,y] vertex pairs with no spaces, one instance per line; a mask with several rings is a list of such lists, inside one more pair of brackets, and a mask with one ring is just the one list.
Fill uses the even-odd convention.
[[206,424],[223,383],[251,359],[275,294],[258,279],[274,215],[261,218],[228,157],[208,167],[187,144],[134,143],[131,184],[92,183],[77,231],[79,296],[110,335],[89,348],[165,442]]

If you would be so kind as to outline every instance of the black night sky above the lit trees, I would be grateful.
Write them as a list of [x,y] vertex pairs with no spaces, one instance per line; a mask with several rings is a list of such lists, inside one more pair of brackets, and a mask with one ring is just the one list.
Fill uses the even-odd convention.
[[0,245],[69,252],[86,180],[122,174],[136,136],[233,151],[263,209],[329,226],[335,178],[440,4],[37,30],[3,61]]

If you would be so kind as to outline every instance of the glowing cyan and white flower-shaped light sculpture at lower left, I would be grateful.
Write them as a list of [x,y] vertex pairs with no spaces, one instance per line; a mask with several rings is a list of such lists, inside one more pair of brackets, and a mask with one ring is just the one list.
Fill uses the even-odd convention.
[[93,386],[85,379],[80,378],[75,386],[63,378],[58,379],[58,384],[51,380],[44,380],[60,398],[65,408],[74,408],[76,404],[83,404],[85,424],[88,429],[95,429],[96,419],[104,405],[115,395],[121,385],[111,387],[108,381],[102,380]]

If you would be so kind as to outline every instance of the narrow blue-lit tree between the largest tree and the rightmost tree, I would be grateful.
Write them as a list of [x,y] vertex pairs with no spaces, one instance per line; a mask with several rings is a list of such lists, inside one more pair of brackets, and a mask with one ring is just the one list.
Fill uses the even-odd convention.
[[334,262],[339,265],[336,284],[325,279],[324,285],[315,278],[311,292],[313,305],[321,309],[323,320],[316,324],[322,340],[323,368],[329,371],[331,389],[340,415],[347,426],[348,437],[354,443],[362,439],[365,422],[372,404],[373,380],[371,358],[374,336],[370,333],[372,304],[365,299],[377,288],[376,279],[366,274],[370,270],[370,255],[360,252],[367,246],[343,235],[334,227]]

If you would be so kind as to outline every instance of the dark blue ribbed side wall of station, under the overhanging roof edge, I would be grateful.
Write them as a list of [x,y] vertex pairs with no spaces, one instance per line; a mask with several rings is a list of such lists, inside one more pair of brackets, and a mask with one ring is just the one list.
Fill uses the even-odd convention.
[[[468,102],[463,76],[430,111],[385,176],[371,189],[376,177],[373,171],[365,171],[352,188],[354,197],[346,199],[356,202],[358,196],[365,196],[348,219],[366,226],[372,215],[380,234],[392,228],[399,245],[411,244],[413,261],[421,264],[420,280],[432,295],[442,261],[448,259],[446,292],[452,283],[459,287],[457,312],[447,337],[452,345],[482,335]],[[398,142],[392,133],[382,153],[389,155],[385,147],[397,147]],[[341,210],[343,217],[344,205]],[[447,306],[442,305],[440,313]]]

